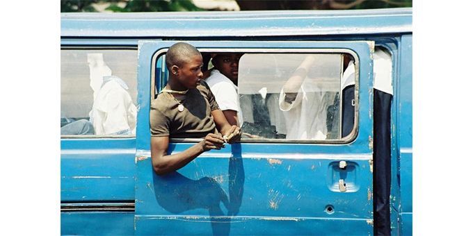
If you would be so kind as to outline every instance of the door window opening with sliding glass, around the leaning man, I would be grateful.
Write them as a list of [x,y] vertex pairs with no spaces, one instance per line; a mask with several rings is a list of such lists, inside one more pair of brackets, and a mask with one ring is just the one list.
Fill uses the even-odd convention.
[[[159,51],[158,53],[163,53]],[[355,66],[354,53],[323,51],[314,53],[258,53],[235,51],[202,50],[204,66],[202,71],[206,78],[215,70],[211,60],[216,54],[240,54],[238,69],[238,96],[241,108],[240,126],[243,130],[241,142],[299,142],[299,143],[346,143],[356,135],[355,117],[358,106],[355,98],[355,76],[358,67]],[[166,85],[168,71],[163,63],[165,54],[155,56],[155,72],[153,79],[154,96]],[[294,101],[298,115],[289,114],[280,106],[282,87],[300,68],[306,58],[312,58],[312,64],[307,68],[303,85],[300,88],[301,97]],[[307,63],[306,63],[307,64]],[[161,88],[158,88],[161,85]],[[215,94],[215,92],[213,91]],[[302,96],[305,94],[305,97]],[[218,98],[216,98],[218,102]],[[303,103],[303,104],[302,104]],[[295,106],[294,106],[295,107]],[[297,110],[298,109],[298,110]],[[295,112],[293,112],[295,113]],[[313,114],[312,114],[313,113]],[[290,127],[288,124],[300,124],[302,127]],[[191,139],[173,139],[173,142],[192,142]]]

